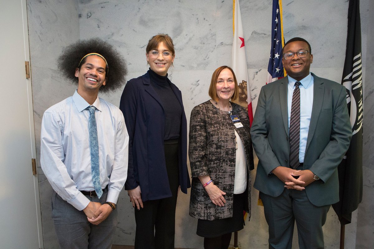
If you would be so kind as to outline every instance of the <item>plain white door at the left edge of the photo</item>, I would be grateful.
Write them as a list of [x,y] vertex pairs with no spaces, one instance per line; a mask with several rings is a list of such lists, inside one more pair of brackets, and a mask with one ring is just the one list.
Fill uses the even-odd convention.
[[0,8],[0,248],[43,248],[36,158],[26,0]]

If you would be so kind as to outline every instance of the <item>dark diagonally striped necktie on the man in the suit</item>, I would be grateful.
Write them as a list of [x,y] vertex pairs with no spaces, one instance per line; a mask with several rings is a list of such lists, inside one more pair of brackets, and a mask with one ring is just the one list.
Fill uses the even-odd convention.
[[300,84],[298,81],[295,82],[289,121],[289,166],[293,169],[300,165]]

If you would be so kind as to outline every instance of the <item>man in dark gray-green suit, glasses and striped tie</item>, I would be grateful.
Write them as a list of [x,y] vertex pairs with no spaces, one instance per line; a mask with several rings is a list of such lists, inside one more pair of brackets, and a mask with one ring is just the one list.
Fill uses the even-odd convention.
[[352,137],[346,89],[309,72],[310,44],[283,47],[288,76],[261,88],[251,137],[259,162],[254,187],[269,225],[269,248],[324,248],[322,225],[339,200],[337,166]]

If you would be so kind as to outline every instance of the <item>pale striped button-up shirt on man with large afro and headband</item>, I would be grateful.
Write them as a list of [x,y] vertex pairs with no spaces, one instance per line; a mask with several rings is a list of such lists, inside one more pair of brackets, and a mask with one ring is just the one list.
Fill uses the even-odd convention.
[[[107,202],[117,203],[127,178],[128,144],[122,112],[97,97],[95,118],[99,142],[100,182],[108,185]],[[53,190],[76,209],[90,200],[79,190],[95,190],[91,175],[89,103],[75,91],[51,106],[42,121],[40,164]]]

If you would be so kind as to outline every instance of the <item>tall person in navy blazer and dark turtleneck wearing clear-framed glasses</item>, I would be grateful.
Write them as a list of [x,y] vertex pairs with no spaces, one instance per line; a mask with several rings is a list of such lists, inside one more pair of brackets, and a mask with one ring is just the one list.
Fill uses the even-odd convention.
[[172,39],[153,36],[145,56],[148,72],[123,90],[120,109],[129,133],[125,189],[135,208],[135,249],[174,249],[179,189],[187,193],[187,121],[181,91],[168,79]]

